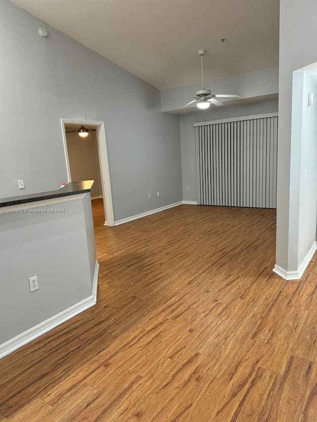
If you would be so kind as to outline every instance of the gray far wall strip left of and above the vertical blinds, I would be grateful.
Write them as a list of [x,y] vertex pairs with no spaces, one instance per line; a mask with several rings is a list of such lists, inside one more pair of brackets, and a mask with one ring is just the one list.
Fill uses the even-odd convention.
[[[278,111],[278,100],[234,107],[213,108],[206,112],[206,121]],[[195,130],[193,123],[205,120],[204,111],[180,116],[183,199],[197,201]],[[189,186],[190,190],[186,190]]]

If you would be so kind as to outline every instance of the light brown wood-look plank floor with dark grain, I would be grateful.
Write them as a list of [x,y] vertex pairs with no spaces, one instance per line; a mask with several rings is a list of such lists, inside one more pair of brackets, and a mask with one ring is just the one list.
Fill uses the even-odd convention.
[[272,273],[274,210],[102,211],[98,303],[0,361],[1,422],[317,421],[317,259]]

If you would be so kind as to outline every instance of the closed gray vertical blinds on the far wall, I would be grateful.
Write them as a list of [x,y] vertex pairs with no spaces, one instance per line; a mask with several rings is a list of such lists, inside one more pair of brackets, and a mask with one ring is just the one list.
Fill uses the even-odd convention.
[[276,208],[277,120],[196,126],[199,204]]

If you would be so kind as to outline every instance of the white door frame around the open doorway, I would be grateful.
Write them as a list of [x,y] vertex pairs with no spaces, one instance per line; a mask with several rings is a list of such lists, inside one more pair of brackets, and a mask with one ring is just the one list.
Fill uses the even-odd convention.
[[64,144],[66,171],[67,171],[67,178],[68,178],[68,183],[69,183],[71,182],[71,175],[70,175],[70,166],[69,166],[68,151],[67,151],[65,124],[79,125],[79,126],[81,125],[96,126],[100,175],[101,175],[101,180],[102,180],[103,197],[104,197],[105,226],[114,226],[105,123],[94,122],[90,120],[60,119],[61,133],[62,133],[63,144]]

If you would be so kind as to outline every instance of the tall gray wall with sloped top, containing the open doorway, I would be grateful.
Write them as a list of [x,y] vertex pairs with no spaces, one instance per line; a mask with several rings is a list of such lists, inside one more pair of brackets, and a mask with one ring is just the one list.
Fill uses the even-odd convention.
[[160,112],[157,89],[7,0],[0,39],[0,196],[66,180],[65,118],[105,122],[115,220],[182,199],[179,118]]

